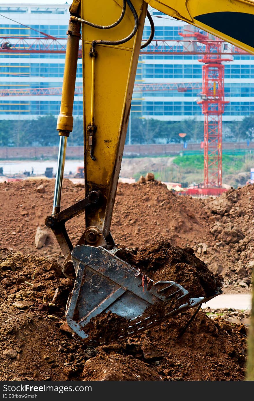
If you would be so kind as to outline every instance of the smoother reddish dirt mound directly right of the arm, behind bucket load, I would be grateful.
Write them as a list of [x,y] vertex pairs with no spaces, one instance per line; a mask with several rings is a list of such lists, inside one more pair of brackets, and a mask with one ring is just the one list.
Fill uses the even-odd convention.
[[199,200],[178,196],[160,181],[118,185],[112,221],[117,243],[128,247],[168,240],[184,246],[190,238],[206,241],[210,235]]

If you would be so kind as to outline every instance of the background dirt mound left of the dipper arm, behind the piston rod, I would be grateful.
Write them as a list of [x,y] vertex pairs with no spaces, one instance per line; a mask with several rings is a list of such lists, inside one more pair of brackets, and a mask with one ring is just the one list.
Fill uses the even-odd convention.
[[[45,217],[52,213],[55,180],[23,180],[0,184],[1,219],[0,246],[23,253],[34,253],[57,259],[60,247],[50,229],[44,225]],[[84,198],[84,188],[64,180],[62,208]],[[46,244],[36,248],[37,228],[48,231]],[[78,241],[84,231],[84,216],[66,224],[72,240]],[[80,228],[79,228],[80,227]]]

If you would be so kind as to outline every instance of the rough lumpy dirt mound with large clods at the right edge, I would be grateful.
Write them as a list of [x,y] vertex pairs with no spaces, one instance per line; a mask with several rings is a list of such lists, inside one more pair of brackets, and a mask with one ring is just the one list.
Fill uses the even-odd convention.
[[213,241],[194,249],[212,271],[224,277],[224,292],[248,292],[254,265],[254,186],[231,188],[220,198],[204,202]]

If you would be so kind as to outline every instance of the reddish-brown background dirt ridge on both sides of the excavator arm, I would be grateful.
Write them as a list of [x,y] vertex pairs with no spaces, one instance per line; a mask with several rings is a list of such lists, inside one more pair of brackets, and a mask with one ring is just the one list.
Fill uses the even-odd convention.
[[[0,184],[2,247],[62,263],[49,229],[43,247],[35,246],[36,231],[51,214],[53,194],[54,179]],[[82,185],[64,180],[62,208],[83,197]],[[254,266],[253,198],[253,185],[230,189],[219,198],[199,199],[178,196],[154,180],[119,183],[111,233],[116,244],[126,247],[144,247],[156,241],[191,247],[213,273],[224,277],[224,293],[248,293]],[[75,244],[84,231],[84,215],[66,227]]]

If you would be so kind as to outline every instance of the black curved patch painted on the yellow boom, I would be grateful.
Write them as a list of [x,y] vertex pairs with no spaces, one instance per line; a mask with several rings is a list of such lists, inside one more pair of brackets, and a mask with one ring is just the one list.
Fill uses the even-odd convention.
[[254,15],[245,12],[211,12],[194,17],[195,20],[211,26],[239,42],[254,47]]

